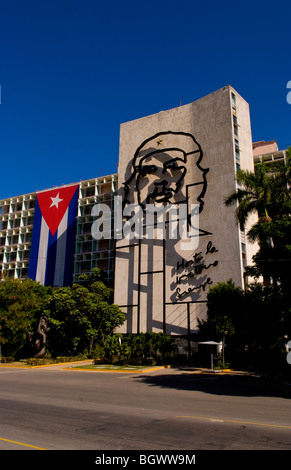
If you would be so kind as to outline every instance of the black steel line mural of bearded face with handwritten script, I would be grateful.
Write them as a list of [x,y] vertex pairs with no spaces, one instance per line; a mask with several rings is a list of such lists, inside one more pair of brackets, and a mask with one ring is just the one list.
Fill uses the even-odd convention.
[[[158,132],[145,139],[136,149],[133,158],[129,161],[126,178],[123,182],[123,207],[134,202],[138,204],[145,215],[150,205],[168,206],[178,208],[186,206],[187,222],[191,224],[190,202],[198,207],[202,213],[207,192],[207,174],[209,168],[203,166],[203,151],[201,145],[193,134],[186,132],[165,131]],[[199,226],[195,236],[208,236],[206,246],[198,245],[197,250],[190,257],[184,258],[179,248],[180,240],[163,240],[163,269],[156,271],[163,274],[163,329],[166,325],[167,305],[179,302],[196,302],[202,291],[212,284],[209,273],[214,269],[218,260],[214,258],[218,252],[211,241],[211,233]],[[210,239],[209,239],[210,237]],[[141,244],[139,240],[139,250]],[[117,246],[118,250],[118,246]],[[166,275],[169,266],[166,254],[170,253],[176,262],[171,261],[171,282]],[[169,257],[169,256],[168,256]],[[129,263],[130,264],[130,263]],[[140,271],[140,265],[138,267]],[[142,285],[143,275],[154,275],[155,271],[138,273],[138,283],[135,288],[140,293],[145,290]],[[166,294],[167,291],[167,294]],[[170,291],[170,299],[167,298]],[[151,296],[150,292],[148,295]],[[154,303],[154,299],[152,299]],[[140,310],[140,295],[138,294],[138,315]]]

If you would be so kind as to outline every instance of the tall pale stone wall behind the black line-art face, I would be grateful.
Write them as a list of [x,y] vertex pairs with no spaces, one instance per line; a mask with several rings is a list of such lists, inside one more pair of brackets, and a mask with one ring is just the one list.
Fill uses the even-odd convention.
[[[194,246],[189,249],[185,241],[171,240],[168,235],[165,240],[117,242],[114,301],[127,315],[121,332],[195,332],[197,318],[206,314],[210,286],[229,278],[243,286],[242,234],[235,207],[224,205],[225,197],[236,188],[233,114],[239,124],[241,168],[252,170],[248,104],[230,86],[194,103],[121,125],[118,181],[123,199],[145,204],[146,194],[152,195],[163,177],[172,179],[171,187],[177,189],[177,172],[184,175],[186,169],[176,193],[169,197],[165,191],[164,196],[149,201],[164,197],[165,204],[180,208],[187,200],[188,213],[191,204],[200,207],[199,231],[196,227],[191,239]],[[181,168],[158,176],[159,165],[168,168],[170,160]],[[145,174],[144,167],[151,165],[156,170]]]

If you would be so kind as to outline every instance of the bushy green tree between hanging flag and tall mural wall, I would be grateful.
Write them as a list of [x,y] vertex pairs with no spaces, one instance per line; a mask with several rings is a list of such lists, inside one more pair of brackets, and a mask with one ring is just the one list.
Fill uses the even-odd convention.
[[52,290],[49,348],[55,355],[85,350],[91,354],[94,344],[103,344],[125,320],[119,307],[111,303],[112,290],[102,282],[99,269],[78,281],[72,287]]

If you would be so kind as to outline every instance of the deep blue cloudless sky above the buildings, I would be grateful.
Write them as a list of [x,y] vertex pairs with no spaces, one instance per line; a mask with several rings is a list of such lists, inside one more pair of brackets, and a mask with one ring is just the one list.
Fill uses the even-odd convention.
[[0,0],[0,198],[117,171],[120,123],[232,85],[291,146],[288,0]]

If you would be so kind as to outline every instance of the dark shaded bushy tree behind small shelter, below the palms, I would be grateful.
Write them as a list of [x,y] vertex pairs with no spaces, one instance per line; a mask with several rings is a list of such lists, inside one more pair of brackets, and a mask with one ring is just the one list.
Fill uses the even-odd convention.
[[280,369],[286,322],[284,297],[278,290],[257,283],[242,291],[231,280],[221,282],[209,289],[207,308],[207,318],[199,322],[200,333],[205,339],[222,340],[223,345],[227,338],[232,365],[264,372]]

